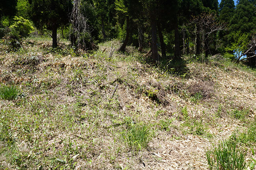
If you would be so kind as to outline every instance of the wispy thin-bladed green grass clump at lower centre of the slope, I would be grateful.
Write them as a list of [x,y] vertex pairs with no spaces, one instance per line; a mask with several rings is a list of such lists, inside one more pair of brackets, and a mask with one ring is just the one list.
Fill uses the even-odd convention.
[[132,151],[139,151],[147,148],[152,139],[150,127],[145,124],[135,124],[128,127],[128,130],[121,133],[121,138]]

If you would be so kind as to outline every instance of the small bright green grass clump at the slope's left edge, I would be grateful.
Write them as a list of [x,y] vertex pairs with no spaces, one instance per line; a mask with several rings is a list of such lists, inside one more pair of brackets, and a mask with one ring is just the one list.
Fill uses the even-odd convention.
[[15,100],[19,93],[20,90],[14,85],[0,87],[0,98],[4,100]]

